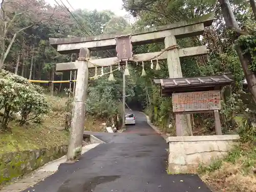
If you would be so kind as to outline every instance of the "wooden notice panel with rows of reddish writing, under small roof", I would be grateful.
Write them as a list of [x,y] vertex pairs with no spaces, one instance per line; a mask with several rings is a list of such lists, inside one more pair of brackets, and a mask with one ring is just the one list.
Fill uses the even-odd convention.
[[173,112],[200,112],[221,109],[220,91],[173,93]]

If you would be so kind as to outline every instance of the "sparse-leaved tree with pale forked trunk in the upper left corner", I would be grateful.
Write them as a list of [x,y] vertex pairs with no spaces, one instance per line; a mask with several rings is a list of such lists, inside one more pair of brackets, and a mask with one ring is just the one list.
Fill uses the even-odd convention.
[[55,9],[44,3],[44,1],[36,0],[2,0],[0,14],[2,19],[0,23],[0,69],[3,68],[17,35],[38,23],[48,22],[53,16]]

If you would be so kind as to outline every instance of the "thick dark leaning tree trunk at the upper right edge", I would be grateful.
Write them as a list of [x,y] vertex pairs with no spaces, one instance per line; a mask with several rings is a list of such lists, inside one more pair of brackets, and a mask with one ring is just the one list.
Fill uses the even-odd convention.
[[[228,0],[219,0],[219,3],[221,5],[221,11],[226,23],[226,26],[228,29],[236,29],[240,30],[238,27],[238,23],[236,18],[234,17],[234,13],[232,11],[231,5]],[[234,39],[232,39],[234,42]],[[254,102],[256,101],[256,77],[254,73],[248,69],[248,66],[250,65],[250,59],[246,58],[245,55],[243,55],[243,51],[240,46],[236,46],[236,51],[239,56],[239,60],[241,62],[245,78],[248,83],[248,88],[253,95]]]

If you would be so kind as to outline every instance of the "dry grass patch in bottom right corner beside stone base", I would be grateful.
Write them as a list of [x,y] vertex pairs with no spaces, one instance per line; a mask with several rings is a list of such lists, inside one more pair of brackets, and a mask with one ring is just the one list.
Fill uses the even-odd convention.
[[242,145],[240,153],[230,153],[223,160],[222,165],[201,175],[213,191],[216,192],[255,192],[256,174],[256,146]]

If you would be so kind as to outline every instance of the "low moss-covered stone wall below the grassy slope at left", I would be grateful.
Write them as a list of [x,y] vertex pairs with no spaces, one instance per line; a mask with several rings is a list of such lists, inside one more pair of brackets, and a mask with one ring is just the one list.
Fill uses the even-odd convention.
[[36,168],[66,155],[68,146],[10,152],[0,155],[0,184],[12,181]]

